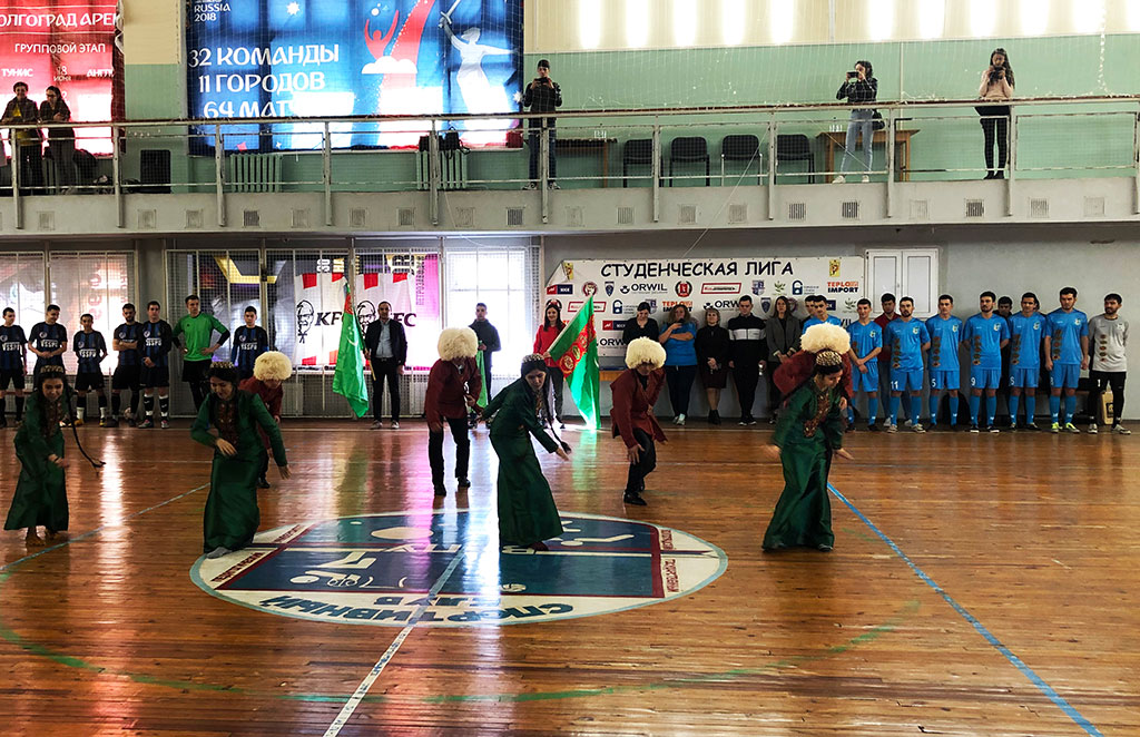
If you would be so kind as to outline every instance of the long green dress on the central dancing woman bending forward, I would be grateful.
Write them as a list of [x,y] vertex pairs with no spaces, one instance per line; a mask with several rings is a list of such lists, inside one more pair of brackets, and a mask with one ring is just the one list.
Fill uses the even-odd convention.
[[530,443],[534,436],[548,453],[559,448],[538,421],[539,402],[527,380],[519,379],[495,395],[483,411],[483,416],[494,415],[490,438],[499,457],[499,542],[504,545],[530,545],[562,534],[551,485]]

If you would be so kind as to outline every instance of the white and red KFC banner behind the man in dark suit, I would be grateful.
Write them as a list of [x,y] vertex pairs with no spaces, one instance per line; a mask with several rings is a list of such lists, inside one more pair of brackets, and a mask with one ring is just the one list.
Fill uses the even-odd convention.
[[[407,333],[409,368],[431,366],[438,358],[435,342],[441,327],[437,264],[437,259],[424,259],[418,278],[412,272],[361,274],[353,287],[361,330],[376,319],[381,302],[391,305],[390,318],[401,323]],[[335,366],[344,315],[344,275],[298,274],[293,289],[296,300],[293,364],[311,368]]]

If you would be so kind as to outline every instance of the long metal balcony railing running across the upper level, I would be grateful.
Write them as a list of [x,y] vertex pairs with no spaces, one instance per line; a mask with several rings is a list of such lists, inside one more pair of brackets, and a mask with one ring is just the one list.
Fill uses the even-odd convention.
[[665,187],[762,187],[772,205],[777,187],[840,176],[887,187],[888,202],[907,181],[1002,178],[1012,193],[1018,179],[1131,177],[1140,212],[1140,96],[1018,99],[1009,118],[978,103],[877,104],[870,164],[857,136],[848,151],[852,108],[838,104],[560,113],[549,129],[529,128],[549,114],[520,113],[10,125],[9,139],[38,128],[48,145],[19,144],[0,191],[17,228],[27,196],[115,197],[124,227],[127,195],[203,192],[219,227],[231,193],[291,192],[323,193],[325,226],[344,192],[423,192],[438,224],[448,192],[535,189],[545,222],[554,189],[645,188],[657,220]]

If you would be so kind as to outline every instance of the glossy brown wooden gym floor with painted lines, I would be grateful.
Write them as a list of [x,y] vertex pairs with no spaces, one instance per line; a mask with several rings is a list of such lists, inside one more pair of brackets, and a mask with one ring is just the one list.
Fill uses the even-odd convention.
[[[262,529],[430,513],[422,422],[285,427],[295,475],[270,472]],[[768,428],[666,431],[645,508],[622,507],[608,434],[570,431],[572,462],[543,465],[563,513],[694,535],[727,556],[718,578],[600,616],[401,629],[204,592],[190,570],[209,451],[186,421],[82,428],[107,469],[97,478],[68,437],[70,541],[36,554],[23,533],[0,538],[0,731],[1140,735],[1137,439],[848,435],[834,551],[764,554],[782,485],[759,460]],[[13,434],[0,431],[3,511]],[[441,511],[466,507],[494,531],[495,469],[480,428],[474,486]]]

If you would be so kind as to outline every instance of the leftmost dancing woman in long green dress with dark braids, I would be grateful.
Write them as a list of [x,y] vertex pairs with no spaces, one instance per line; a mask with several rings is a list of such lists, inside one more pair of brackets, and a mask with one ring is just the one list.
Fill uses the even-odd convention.
[[67,488],[64,469],[64,434],[60,420],[67,416],[63,366],[43,366],[35,391],[28,397],[24,422],[16,431],[19,480],[11,499],[5,529],[27,528],[30,546],[44,544],[36,534],[42,525],[47,540],[57,540],[67,529]]

